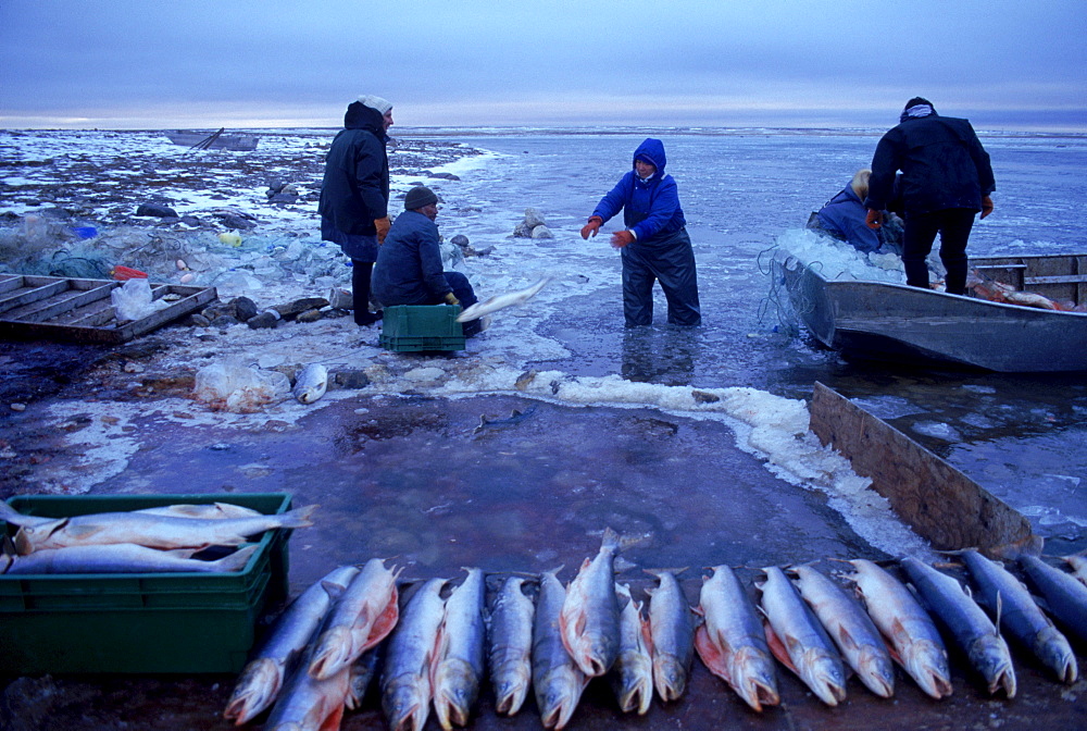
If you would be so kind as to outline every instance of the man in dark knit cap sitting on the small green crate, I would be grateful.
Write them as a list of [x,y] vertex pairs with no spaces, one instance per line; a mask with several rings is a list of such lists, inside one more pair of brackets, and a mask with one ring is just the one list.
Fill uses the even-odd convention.
[[[377,252],[371,289],[384,307],[397,305],[476,303],[468,277],[441,268],[438,248],[438,197],[425,186],[415,186],[404,197],[404,212],[397,216]],[[464,335],[483,330],[479,320],[464,323]]]

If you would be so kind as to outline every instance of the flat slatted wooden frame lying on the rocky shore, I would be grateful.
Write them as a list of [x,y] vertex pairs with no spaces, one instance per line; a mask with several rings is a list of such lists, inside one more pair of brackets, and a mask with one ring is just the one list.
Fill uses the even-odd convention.
[[126,343],[216,299],[214,287],[151,284],[168,307],[139,320],[118,321],[110,293],[122,282],[0,273],[0,338],[60,343]]

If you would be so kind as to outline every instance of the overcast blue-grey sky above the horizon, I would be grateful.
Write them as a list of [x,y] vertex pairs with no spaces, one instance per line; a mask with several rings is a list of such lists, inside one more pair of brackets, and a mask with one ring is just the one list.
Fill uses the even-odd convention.
[[0,0],[0,127],[1087,131],[1087,0]]

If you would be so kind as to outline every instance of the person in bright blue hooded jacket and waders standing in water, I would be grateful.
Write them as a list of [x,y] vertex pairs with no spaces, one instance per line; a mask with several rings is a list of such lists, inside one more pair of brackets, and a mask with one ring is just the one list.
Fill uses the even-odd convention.
[[623,314],[627,327],[652,324],[654,282],[661,283],[667,299],[669,323],[702,323],[695,250],[676,182],[664,173],[666,164],[661,140],[649,138],[639,145],[633,170],[600,199],[582,228],[582,238],[588,240],[623,211],[625,227],[612,234],[611,245],[623,256]]

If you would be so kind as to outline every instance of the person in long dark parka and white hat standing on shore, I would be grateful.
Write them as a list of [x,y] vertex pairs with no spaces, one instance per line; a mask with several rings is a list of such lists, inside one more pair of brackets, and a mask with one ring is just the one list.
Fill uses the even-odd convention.
[[389,231],[389,158],[386,144],[392,104],[364,96],[348,104],[343,129],[333,139],[321,184],[321,238],[339,244],[351,258],[354,321],[372,325],[370,275],[377,248]]

